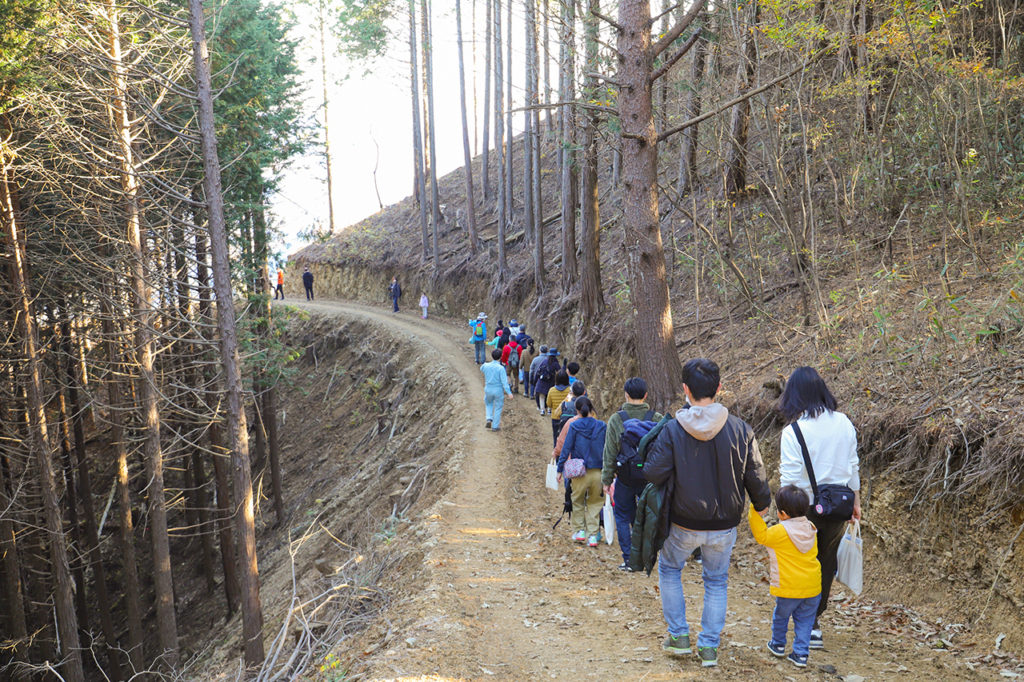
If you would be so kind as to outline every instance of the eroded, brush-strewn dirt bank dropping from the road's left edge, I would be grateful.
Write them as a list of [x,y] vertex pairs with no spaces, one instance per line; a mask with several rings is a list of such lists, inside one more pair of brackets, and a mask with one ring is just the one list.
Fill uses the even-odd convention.
[[[429,344],[357,314],[293,315],[286,341],[301,352],[281,395],[288,522],[258,529],[267,660],[352,672],[372,651],[353,641],[419,580],[422,553],[392,540],[446,491],[465,396]],[[213,646],[193,670],[232,677],[239,642]]]

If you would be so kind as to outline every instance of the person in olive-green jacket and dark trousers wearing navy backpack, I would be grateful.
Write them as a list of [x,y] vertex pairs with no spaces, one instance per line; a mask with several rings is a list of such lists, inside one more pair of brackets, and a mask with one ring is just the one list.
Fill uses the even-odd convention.
[[618,412],[608,418],[608,429],[604,435],[601,485],[605,495],[612,496],[615,505],[615,536],[618,538],[618,549],[623,552],[623,563],[618,569],[629,570],[630,551],[633,548],[631,532],[637,513],[637,498],[647,482],[641,477],[635,476],[636,480],[626,480],[626,476],[623,476],[615,481],[614,492],[611,491],[611,482],[615,479],[618,469],[616,464],[622,453],[623,424],[629,419],[657,422],[660,421],[662,415],[647,404],[647,382],[640,377],[628,379],[623,389],[626,391],[626,402]]

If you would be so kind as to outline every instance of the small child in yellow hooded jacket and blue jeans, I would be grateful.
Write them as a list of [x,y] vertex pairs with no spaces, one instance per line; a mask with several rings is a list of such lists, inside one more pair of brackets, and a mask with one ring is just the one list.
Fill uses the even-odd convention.
[[768,548],[771,569],[769,592],[775,596],[768,650],[782,657],[793,619],[793,652],[787,656],[798,668],[807,667],[811,629],[821,599],[821,564],[818,563],[817,528],[807,519],[810,501],[796,485],[783,485],[775,494],[778,525],[768,527],[751,506],[749,520],[754,540]]

